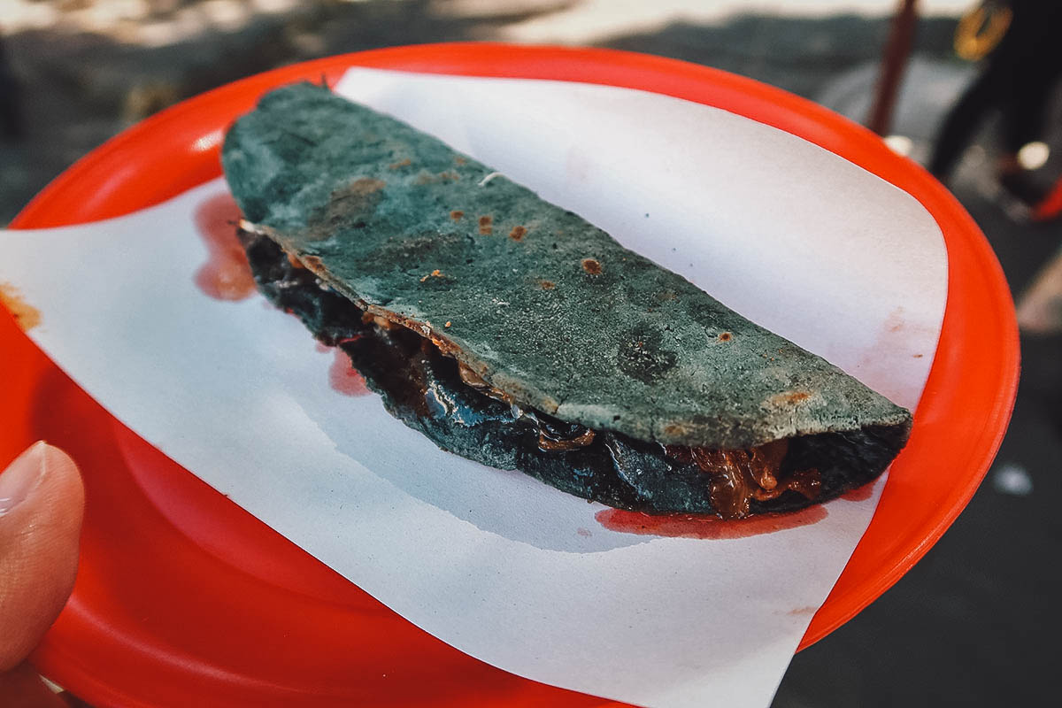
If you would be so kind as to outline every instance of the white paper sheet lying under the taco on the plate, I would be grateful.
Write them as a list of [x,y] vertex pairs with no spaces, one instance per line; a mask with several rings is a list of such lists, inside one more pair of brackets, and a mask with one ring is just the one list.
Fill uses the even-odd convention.
[[[944,310],[943,240],[918,202],[860,168],[628,89],[355,69],[339,90],[917,403]],[[0,282],[41,312],[31,336],[118,418],[453,646],[646,706],[770,703],[880,484],[765,535],[610,531],[602,506],[441,452],[375,396],[337,393],[335,352],[260,296],[206,296],[198,228],[225,194],[216,180],[113,221],[4,232]]]

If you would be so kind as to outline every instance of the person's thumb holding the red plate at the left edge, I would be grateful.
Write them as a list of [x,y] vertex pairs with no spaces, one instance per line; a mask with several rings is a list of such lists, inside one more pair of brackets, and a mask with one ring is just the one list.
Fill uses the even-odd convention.
[[85,490],[73,461],[37,443],[0,472],[0,673],[58,616],[78,571]]

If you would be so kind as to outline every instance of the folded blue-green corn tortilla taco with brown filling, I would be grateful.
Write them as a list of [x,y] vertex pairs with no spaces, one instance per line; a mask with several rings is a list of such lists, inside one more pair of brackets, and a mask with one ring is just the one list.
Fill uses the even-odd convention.
[[326,88],[264,96],[222,160],[262,292],[444,449],[735,518],[864,484],[907,441],[907,410],[821,357]]

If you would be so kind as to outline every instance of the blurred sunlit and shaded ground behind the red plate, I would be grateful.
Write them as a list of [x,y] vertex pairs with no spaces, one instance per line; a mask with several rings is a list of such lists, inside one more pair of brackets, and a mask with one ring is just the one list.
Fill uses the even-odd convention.
[[[123,127],[279,65],[392,45],[508,40],[613,47],[697,62],[862,121],[892,0],[0,0],[20,128],[0,139],[0,225]],[[954,57],[969,0],[923,0],[892,133],[924,160],[975,72]],[[1058,116],[1058,111],[1055,114]],[[1059,121],[1048,143],[1062,153]],[[1000,203],[991,125],[952,188],[984,230],[1015,296],[1062,243]],[[1052,157],[1050,163],[1054,163]],[[1010,432],[969,508],[895,587],[800,653],[775,698],[811,706],[1041,705],[1062,626],[1062,336],[1024,335]],[[986,342],[984,346],[992,346]]]

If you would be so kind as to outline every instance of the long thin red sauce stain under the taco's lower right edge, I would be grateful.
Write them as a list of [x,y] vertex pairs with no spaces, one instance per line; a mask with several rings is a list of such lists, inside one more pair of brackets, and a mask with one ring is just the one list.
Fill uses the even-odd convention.
[[746,538],[775,531],[806,526],[822,521],[828,516],[822,504],[808,506],[791,514],[766,514],[748,519],[724,521],[706,514],[643,514],[620,508],[606,508],[594,515],[602,526],[641,536],[666,536],[668,538]]

